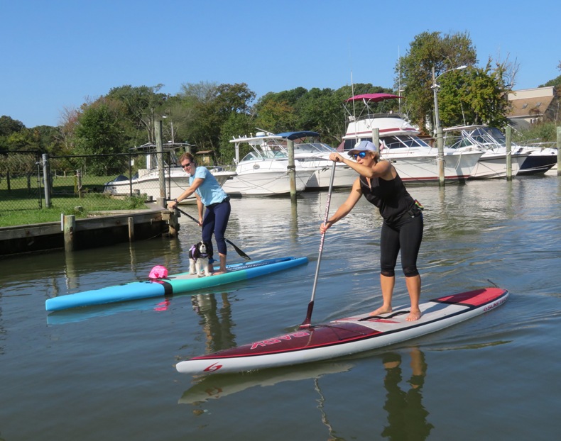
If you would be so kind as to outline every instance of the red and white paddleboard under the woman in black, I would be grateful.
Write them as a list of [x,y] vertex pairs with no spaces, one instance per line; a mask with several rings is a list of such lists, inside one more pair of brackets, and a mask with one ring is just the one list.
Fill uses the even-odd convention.
[[388,314],[364,314],[311,325],[293,333],[179,362],[183,374],[244,372],[342,357],[419,337],[501,306],[508,291],[485,288],[433,298],[420,304],[423,316],[408,322],[408,307]]

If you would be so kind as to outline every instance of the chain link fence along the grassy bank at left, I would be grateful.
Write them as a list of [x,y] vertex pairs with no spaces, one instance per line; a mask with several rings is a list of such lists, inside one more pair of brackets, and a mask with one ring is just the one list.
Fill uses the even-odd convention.
[[151,157],[146,152],[53,157],[1,152],[0,212],[122,210],[144,208],[146,201],[162,196],[170,199],[175,156],[164,151]]

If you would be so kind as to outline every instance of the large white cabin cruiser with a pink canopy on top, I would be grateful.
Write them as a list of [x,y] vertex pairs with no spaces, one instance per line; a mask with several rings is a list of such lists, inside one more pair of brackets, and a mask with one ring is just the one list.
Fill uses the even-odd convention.
[[[380,156],[392,162],[403,181],[439,182],[437,147],[432,147],[419,138],[420,131],[413,128],[400,114],[372,111],[372,106],[380,101],[399,98],[401,97],[392,94],[361,94],[347,99],[345,109],[349,113],[349,125],[343,143],[337,150],[352,150],[361,140],[372,140],[377,128]],[[362,107],[362,110],[359,116],[354,116],[353,109],[357,107]],[[479,150],[459,152],[445,147],[442,158],[445,182],[466,181],[481,155],[483,152]]]

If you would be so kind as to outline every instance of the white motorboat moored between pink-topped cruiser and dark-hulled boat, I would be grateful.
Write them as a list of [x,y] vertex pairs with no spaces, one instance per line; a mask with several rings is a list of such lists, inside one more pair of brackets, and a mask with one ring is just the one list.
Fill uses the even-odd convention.
[[[503,178],[507,174],[506,144],[496,143],[483,125],[462,125],[445,128],[445,145],[458,151],[484,152],[469,179]],[[511,147],[511,176],[516,176],[530,152],[520,146]]]

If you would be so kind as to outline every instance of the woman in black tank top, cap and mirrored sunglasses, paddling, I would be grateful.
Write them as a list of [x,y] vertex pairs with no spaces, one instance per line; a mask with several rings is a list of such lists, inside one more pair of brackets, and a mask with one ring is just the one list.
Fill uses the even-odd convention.
[[388,161],[380,160],[373,143],[361,141],[349,151],[349,156],[354,157],[356,162],[342,157],[337,152],[329,155],[330,160],[344,162],[354,169],[359,177],[356,178],[347,201],[337,208],[327,223],[322,223],[320,231],[325,233],[337,220],[347,216],[363,195],[378,207],[383,218],[380,235],[380,284],[383,304],[372,311],[371,316],[392,311],[391,298],[396,284],[395,267],[401,251],[401,267],[411,299],[407,320],[418,320],[421,316],[421,279],[417,269],[417,257],[423,240],[422,208],[405,189],[395,167]]

